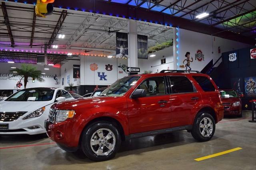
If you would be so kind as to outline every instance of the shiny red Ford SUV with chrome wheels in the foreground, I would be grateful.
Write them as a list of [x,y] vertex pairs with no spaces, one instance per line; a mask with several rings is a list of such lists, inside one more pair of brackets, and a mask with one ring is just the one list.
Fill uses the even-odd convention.
[[52,105],[46,131],[60,148],[113,158],[121,141],[187,130],[208,141],[223,118],[220,92],[205,74],[163,70],[119,79],[98,97]]

